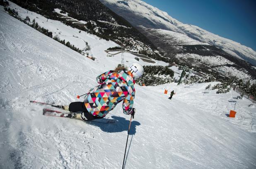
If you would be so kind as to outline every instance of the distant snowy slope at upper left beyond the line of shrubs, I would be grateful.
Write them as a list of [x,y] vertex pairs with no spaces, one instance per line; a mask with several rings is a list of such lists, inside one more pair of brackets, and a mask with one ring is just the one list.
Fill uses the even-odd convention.
[[[85,31],[81,31],[76,28],[72,28],[71,26],[67,26],[60,21],[47,19],[40,14],[35,12],[28,11],[18,5],[14,4],[13,2],[10,3],[10,8],[15,9],[18,12],[21,18],[26,18],[29,16],[30,20],[35,21],[39,24],[39,26],[48,29],[50,32],[53,33],[53,37],[58,36],[60,40],[65,40],[65,42],[70,42],[70,44],[75,45],[75,47],[79,49],[84,49],[86,47],[86,42],[91,47],[89,51],[90,56],[96,57],[99,59],[103,56],[106,56],[106,53],[99,53],[100,49],[107,49],[109,47],[119,46],[115,42],[106,40],[102,40],[101,38],[97,37],[96,35],[92,35],[86,33]],[[57,10],[56,10],[57,11]],[[106,43],[107,42],[107,43]]]

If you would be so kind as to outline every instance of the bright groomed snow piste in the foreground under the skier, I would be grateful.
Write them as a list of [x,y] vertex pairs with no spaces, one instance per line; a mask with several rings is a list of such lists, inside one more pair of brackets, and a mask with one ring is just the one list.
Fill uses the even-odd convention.
[[[2,7],[0,18],[0,168],[121,168],[130,119],[121,105],[106,125],[43,116],[43,106],[29,103],[77,101],[119,59],[87,59]],[[240,100],[229,119],[236,94],[204,94],[207,85],[135,85],[126,169],[256,167],[256,108]],[[172,100],[164,88],[174,89]]]

